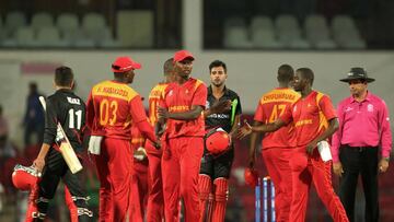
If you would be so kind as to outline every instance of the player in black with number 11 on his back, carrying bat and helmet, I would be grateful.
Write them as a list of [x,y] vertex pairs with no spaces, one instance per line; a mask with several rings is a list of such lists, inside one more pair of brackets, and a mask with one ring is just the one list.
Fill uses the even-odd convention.
[[82,131],[85,125],[84,102],[72,92],[73,73],[68,67],[55,71],[55,94],[46,102],[44,142],[33,165],[43,172],[38,186],[38,212],[34,221],[44,221],[49,200],[54,198],[59,180],[68,187],[77,206],[78,221],[89,221],[92,212],[88,209],[86,192],[82,186],[82,173],[72,174],[59,151],[57,124],[60,122],[76,153],[82,152]]

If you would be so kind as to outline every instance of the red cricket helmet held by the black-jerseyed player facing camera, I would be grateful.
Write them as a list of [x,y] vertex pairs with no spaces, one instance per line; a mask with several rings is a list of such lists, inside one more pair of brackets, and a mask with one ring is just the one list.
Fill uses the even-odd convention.
[[230,149],[231,137],[222,128],[215,128],[207,132],[205,145],[212,155],[220,155]]

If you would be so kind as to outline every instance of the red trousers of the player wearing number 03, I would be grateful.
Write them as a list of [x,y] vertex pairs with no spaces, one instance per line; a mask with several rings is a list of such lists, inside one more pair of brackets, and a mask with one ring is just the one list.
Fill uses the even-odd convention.
[[101,153],[94,156],[100,179],[99,221],[125,221],[131,195],[131,141],[103,138]]

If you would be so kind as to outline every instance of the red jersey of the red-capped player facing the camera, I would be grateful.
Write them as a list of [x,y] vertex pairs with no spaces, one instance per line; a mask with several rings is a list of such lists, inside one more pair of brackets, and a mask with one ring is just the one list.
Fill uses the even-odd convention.
[[[205,107],[208,90],[202,81],[190,78],[184,84],[170,83],[164,90],[164,97],[160,100],[160,106],[170,113],[190,110],[192,106]],[[164,138],[176,137],[204,137],[204,113],[197,119],[175,120],[167,119]]]

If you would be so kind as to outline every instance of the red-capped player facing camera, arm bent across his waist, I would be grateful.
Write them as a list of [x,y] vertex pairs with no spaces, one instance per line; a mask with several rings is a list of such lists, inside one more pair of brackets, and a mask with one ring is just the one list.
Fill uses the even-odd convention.
[[204,152],[204,109],[207,86],[190,78],[194,56],[187,50],[176,51],[174,57],[176,81],[164,90],[158,109],[158,132],[163,124],[162,176],[164,215],[166,222],[179,219],[178,205],[182,197],[185,221],[198,222],[200,201],[198,173]]

